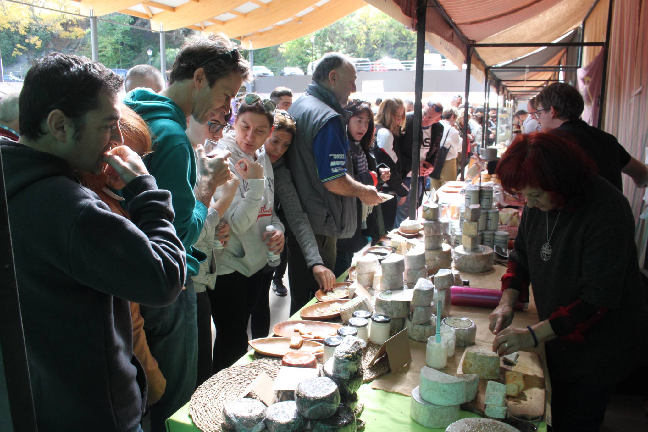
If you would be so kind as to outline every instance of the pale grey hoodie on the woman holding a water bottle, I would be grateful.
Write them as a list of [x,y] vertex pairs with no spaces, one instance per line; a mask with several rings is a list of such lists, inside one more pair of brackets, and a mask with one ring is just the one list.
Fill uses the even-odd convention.
[[[216,257],[216,275],[238,273],[249,277],[262,269],[268,261],[266,252],[268,246],[261,237],[267,225],[284,231],[283,223],[273,210],[273,197],[275,193],[275,179],[272,172],[272,163],[266,154],[264,146],[255,153],[255,157],[248,155],[238,147],[233,133],[224,135],[219,144],[227,147],[232,152],[229,158],[229,168],[238,177],[238,192],[225,212],[223,218],[231,228],[229,243],[223,253]],[[240,159],[260,163],[266,176],[263,179],[244,180],[238,176],[235,164]],[[216,190],[214,199],[220,198],[220,190]]]

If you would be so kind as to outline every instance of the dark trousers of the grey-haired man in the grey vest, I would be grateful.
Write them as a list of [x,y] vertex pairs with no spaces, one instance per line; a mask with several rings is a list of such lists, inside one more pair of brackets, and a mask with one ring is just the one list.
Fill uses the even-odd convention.
[[[324,266],[333,269],[335,267],[338,239],[316,234],[315,240],[318,242],[319,255],[322,257]],[[288,261],[290,316],[292,316],[314,297],[316,291],[319,290],[319,285],[313,276],[313,272],[306,264],[306,259],[295,236],[288,238]]]

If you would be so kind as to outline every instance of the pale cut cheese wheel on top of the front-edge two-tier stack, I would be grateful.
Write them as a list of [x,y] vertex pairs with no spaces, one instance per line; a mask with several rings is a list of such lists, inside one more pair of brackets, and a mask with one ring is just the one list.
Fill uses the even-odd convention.
[[461,378],[424,366],[421,369],[419,392],[435,405],[459,405],[466,400],[466,383]]

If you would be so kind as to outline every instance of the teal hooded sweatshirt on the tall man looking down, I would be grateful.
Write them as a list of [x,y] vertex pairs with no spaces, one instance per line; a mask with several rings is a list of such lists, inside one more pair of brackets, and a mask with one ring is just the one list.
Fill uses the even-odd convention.
[[[143,157],[149,174],[157,187],[171,192],[176,217],[173,226],[187,250],[187,274],[198,274],[200,262],[207,257],[193,244],[198,240],[207,217],[207,207],[194,196],[196,157],[185,133],[187,117],[169,98],[149,89],[135,89],[126,95],[124,104],[132,108],[147,123],[153,140],[153,152]],[[132,199],[124,190],[126,203]]]

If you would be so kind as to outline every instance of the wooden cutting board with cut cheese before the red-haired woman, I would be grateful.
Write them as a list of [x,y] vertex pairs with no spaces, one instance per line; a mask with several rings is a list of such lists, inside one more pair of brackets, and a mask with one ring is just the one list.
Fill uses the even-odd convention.
[[[480,344],[485,348],[491,349],[490,345]],[[459,366],[457,366],[457,374],[463,373],[463,358],[466,352],[463,352]],[[512,404],[527,404],[536,408],[540,413],[544,413],[544,371],[542,370],[542,362],[540,356],[534,352],[520,351],[520,356],[515,366],[504,365],[503,358],[500,358],[500,379],[494,380],[504,383],[504,372],[506,370],[515,370],[524,374],[524,391],[520,396],[514,398],[513,396],[506,396],[506,405]],[[480,380],[480,386],[477,391],[477,397],[467,404],[462,404],[461,409],[470,411],[471,413],[484,415],[486,405],[484,399],[486,397],[486,386],[489,380]]]

